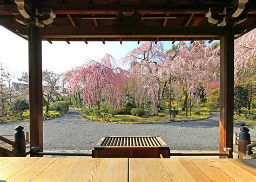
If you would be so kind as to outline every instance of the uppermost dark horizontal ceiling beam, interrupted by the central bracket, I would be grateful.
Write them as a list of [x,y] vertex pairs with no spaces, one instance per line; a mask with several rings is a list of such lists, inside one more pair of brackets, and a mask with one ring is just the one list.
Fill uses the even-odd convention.
[[[37,3],[37,9],[52,8],[53,12],[58,15],[92,15],[92,14],[117,14],[123,10],[123,7],[127,4],[44,4]],[[225,3],[187,3],[187,4],[137,4],[133,5],[134,11],[140,14],[205,14],[209,8],[224,8]],[[251,2],[250,14],[256,13],[256,3]],[[13,15],[17,13],[16,4],[2,4],[0,5],[0,15]]]

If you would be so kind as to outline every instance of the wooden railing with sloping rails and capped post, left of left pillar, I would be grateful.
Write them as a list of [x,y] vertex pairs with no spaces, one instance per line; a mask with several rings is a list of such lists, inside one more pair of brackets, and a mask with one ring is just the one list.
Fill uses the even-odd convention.
[[[18,126],[15,128],[14,141],[0,136],[2,145],[0,146],[0,156],[2,157],[25,157],[26,156],[26,141],[24,127]],[[6,147],[8,146],[8,147]],[[12,148],[12,149],[10,149]]]

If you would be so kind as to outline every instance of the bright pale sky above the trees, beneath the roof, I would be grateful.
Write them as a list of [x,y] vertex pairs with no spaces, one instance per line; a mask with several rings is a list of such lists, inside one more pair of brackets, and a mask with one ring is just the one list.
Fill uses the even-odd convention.
[[[8,67],[9,72],[17,75],[28,71],[28,41],[18,37],[16,34],[0,26],[0,62],[4,67]],[[137,42],[84,42],[65,41],[42,42],[43,69],[62,73],[69,69],[82,65],[86,59],[98,60],[106,53],[116,59],[117,64],[121,64],[118,59],[138,46]],[[164,42],[164,49],[171,47],[171,41]]]

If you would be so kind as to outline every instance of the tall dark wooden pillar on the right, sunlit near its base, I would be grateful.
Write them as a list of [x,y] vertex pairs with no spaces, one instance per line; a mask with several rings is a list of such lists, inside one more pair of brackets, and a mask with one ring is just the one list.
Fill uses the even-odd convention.
[[234,114],[234,30],[226,25],[220,38],[220,121],[219,151],[233,150]]

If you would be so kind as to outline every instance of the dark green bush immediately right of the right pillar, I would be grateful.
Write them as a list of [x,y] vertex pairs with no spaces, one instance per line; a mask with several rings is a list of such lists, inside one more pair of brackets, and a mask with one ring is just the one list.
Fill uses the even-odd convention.
[[248,105],[248,89],[242,85],[234,87],[234,110],[239,115],[242,113],[242,107]]

